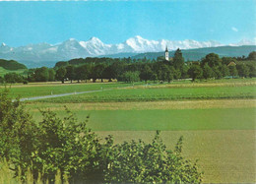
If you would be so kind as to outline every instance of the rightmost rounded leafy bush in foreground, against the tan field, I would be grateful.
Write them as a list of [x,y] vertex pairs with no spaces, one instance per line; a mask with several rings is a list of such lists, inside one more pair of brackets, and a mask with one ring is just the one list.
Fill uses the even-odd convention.
[[181,155],[182,137],[174,152],[166,150],[157,132],[151,144],[132,141],[113,146],[105,171],[107,183],[199,183],[196,163]]

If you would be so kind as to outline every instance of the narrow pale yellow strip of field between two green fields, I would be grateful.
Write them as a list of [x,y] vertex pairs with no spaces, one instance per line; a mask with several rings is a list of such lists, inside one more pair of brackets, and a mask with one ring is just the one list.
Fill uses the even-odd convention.
[[250,108],[256,107],[256,99],[210,99],[183,101],[141,101],[141,102],[87,102],[87,103],[41,103],[30,102],[32,111],[38,108],[51,110],[142,110],[142,109],[206,109],[206,108]]

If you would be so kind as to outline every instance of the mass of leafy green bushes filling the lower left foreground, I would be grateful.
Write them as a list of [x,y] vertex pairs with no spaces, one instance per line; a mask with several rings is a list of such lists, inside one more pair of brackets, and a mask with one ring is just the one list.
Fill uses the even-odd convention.
[[35,123],[18,99],[12,102],[8,92],[0,93],[0,157],[17,181],[201,182],[196,163],[181,155],[182,138],[174,152],[166,150],[160,132],[151,144],[114,145],[111,136],[102,143],[86,127],[88,120],[78,122],[69,110],[63,119],[51,111],[41,113],[42,121]]

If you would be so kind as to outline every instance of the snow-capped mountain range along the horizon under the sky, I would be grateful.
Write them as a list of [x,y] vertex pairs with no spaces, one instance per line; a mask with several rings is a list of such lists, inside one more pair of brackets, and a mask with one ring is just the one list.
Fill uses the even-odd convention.
[[[255,40],[241,40],[232,46],[256,44]],[[224,44],[218,41],[179,40],[148,40],[139,35],[128,38],[122,43],[105,44],[97,37],[88,41],[78,41],[70,38],[58,44],[38,43],[20,47],[10,47],[5,43],[0,46],[0,58],[18,61],[49,62],[69,60],[73,58],[96,57],[117,53],[160,52],[167,46],[169,50],[217,47]]]

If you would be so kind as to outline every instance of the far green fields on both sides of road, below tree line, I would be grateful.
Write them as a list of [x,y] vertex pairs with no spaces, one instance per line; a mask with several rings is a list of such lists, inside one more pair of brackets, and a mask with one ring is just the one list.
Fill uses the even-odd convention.
[[[86,92],[116,88],[129,88],[127,91],[99,92],[91,94],[81,94],[66,96],[65,98],[54,98],[54,102],[83,102],[83,101],[129,101],[129,100],[161,100],[161,99],[180,99],[180,98],[219,98],[219,97],[254,97],[256,79],[233,79],[208,81],[202,83],[191,83],[190,81],[174,81],[170,84],[151,84],[145,83],[132,84],[124,83],[32,83],[29,85],[7,85],[0,86],[0,91],[5,88],[10,90],[13,97],[31,97],[67,93],[67,92]],[[52,102],[53,99],[50,99]]]

